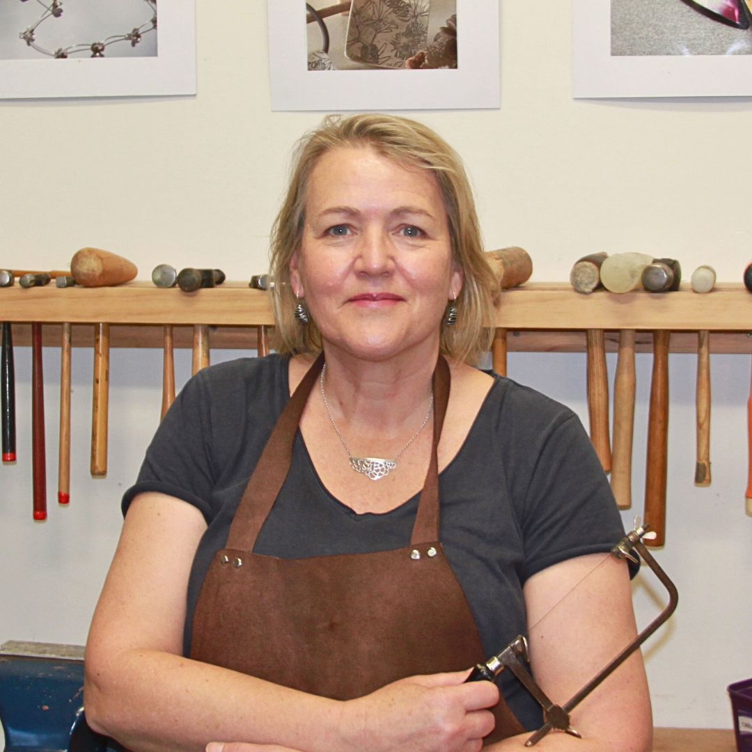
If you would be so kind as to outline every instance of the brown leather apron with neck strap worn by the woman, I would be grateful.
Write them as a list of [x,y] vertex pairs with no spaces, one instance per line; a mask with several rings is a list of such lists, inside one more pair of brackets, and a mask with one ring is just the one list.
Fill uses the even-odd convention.
[[[433,377],[433,450],[410,545],[377,553],[278,559],[253,553],[284,484],[314,363],[280,415],[217,551],[193,620],[191,657],[334,699],[485,660],[465,594],[438,540],[437,446],[450,374]],[[499,646],[499,649],[504,647]],[[489,741],[523,731],[502,699]]]

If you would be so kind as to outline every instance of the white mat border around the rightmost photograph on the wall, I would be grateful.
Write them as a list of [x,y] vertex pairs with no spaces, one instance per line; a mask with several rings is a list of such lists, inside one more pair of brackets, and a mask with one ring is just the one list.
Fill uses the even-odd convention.
[[611,55],[611,2],[572,0],[575,99],[752,95],[749,55]]

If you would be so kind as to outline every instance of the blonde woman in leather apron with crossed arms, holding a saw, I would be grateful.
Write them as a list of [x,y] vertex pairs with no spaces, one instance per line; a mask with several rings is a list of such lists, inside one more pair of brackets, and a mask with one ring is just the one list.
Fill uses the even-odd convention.
[[[620,520],[578,420],[468,365],[497,287],[481,249],[425,126],[329,117],[302,141],[272,239],[281,354],[190,381],[126,493],[95,729],[133,750],[521,749],[535,700],[470,667],[527,632],[563,703],[626,644],[629,575],[602,564]],[[540,748],[650,749],[641,657],[572,720],[582,739]]]

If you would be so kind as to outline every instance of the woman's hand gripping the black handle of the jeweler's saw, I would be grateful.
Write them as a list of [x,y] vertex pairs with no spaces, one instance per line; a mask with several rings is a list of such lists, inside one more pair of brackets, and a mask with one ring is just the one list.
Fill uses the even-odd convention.
[[411,676],[343,705],[342,733],[353,750],[475,752],[493,730],[499,701],[490,681],[468,671]]

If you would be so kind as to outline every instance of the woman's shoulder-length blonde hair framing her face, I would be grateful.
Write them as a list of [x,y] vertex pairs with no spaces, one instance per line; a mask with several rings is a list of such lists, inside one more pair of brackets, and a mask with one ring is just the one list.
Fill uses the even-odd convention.
[[302,241],[311,172],[324,153],[341,147],[371,147],[402,165],[435,174],[447,211],[453,259],[464,273],[456,300],[457,323],[441,326],[441,352],[465,362],[478,362],[493,338],[490,323],[499,282],[484,257],[478,215],[462,160],[443,138],[422,123],[384,114],[329,115],[296,147],[287,196],[271,230],[274,347],[282,353],[314,352],[322,347],[316,323],[311,321],[304,326],[294,317],[296,299],[290,287],[290,259]]

